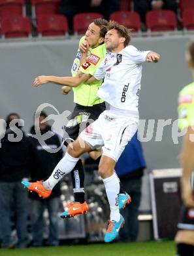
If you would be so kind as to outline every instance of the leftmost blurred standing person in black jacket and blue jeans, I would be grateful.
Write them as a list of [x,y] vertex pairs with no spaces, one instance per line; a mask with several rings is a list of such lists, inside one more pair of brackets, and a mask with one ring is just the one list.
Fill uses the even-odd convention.
[[[13,247],[11,241],[11,214],[16,210],[16,231],[18,244],[16,247],[27,246],[27,191],[21,181],[29,177],[29,171],[35,167],[36,160],[33,144],[20,128],[19,115],[7,116],[5,137],[0,148],[0,232],[1,247]],[[14,122],[16,122],[14,124]]]

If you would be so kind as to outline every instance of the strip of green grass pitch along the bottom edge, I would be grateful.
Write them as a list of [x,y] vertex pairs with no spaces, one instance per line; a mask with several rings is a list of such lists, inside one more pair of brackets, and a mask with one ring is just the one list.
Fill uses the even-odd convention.
[[173,241],[0,249],[1,256],[174,256]]

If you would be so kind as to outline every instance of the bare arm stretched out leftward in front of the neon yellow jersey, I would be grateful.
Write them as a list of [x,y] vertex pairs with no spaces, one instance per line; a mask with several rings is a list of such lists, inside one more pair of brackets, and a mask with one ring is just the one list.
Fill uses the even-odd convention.
[[87,81],[91,77],[89,74],[84,74],[82,72],[78,72],[75,77],[59,77],[54,75],[40,75],[35,78],[33,81],[33,86],[38,87],[39,85],[43,85],[45,83],[54,83],[57,85],[67,85],[69,87],[77,87],[84,81]]

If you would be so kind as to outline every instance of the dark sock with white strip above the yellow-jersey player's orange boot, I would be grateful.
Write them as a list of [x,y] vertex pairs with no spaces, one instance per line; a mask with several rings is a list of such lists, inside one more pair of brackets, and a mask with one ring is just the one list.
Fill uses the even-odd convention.
[[[82,160],[79,160],[76,163],[76,166],[74,167],[73,171],[71,171],[71,179],[73,182],[73,188],[84,188],[84,167],[82,165]],[[85,202],[85,192],[74,192],[74,201],[79,203]]]

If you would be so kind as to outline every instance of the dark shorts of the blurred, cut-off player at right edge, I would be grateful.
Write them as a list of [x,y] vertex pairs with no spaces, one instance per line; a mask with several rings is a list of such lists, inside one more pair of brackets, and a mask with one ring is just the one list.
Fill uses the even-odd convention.
[[180,230],[194,230],[194,208],[182,206],[177,227]]

